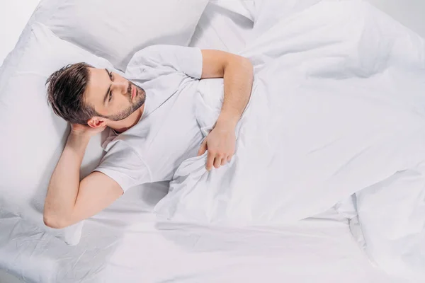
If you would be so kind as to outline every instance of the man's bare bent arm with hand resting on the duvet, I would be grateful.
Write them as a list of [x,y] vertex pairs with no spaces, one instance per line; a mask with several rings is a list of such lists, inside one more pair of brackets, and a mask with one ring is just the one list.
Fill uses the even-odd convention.
[[198,156],[208,149],[207,170],[219,168],[234,154],[234,129],[251,96],[253,67],[249,59],[220,50],[201,50],[201,79],[223,78],[225,98],[214,129],[201,144]]

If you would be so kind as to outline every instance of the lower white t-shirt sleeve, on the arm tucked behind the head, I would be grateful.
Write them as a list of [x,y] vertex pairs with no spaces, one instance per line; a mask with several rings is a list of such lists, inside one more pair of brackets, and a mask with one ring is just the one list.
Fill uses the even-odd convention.
[[94,171],[115,180],[124,192],[130,187],[149,183],[151,180],[149,168],[125,141],[113,144]]

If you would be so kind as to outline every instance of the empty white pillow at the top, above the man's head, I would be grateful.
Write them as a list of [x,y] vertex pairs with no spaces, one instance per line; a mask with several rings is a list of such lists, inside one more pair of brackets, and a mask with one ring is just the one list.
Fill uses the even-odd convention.
[[154,44],[187,46],[208,0],[45,0],[37,21],[125,70]]

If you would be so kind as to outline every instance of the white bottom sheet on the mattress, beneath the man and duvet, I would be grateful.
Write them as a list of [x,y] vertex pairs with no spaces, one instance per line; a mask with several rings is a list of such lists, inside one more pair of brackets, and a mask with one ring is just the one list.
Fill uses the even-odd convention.
[[[241,50],[253,22],[238,7],[210,1],[190,46]],[[158,221],[152,209],[166,192],[164,183],[129,190],[86,221],[77,246],[0,208],[0,269],[43,283],[407,282],[363,252],[351,199],[295,224],[232,229]]]

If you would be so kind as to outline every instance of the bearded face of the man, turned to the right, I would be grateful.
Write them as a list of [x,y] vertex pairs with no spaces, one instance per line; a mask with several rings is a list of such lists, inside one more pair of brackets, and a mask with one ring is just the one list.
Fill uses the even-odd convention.
[[145,91],[123,76],[95,68],[89,68],[89,74],[85,102],[94,106],[99,117],[123,120],[145,103]]

